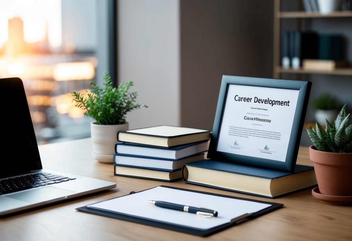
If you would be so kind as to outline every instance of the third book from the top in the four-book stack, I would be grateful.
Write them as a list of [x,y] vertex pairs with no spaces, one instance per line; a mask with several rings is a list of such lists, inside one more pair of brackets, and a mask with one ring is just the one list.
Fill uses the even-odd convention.
[[116,153],[114,155],[114,164],[127,167],[155,168],[159,170],[173,171],[181,169],[185,163],[200,161],[204,158],[204,153],[187,156],[180,159],[166,159],[152,156],[137,156]]

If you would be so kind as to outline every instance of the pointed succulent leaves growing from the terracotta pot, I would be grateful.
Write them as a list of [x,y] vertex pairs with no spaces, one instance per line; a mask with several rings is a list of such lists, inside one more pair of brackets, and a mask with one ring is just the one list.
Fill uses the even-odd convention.
[[334,125],[326,121],[326,131],[316,122],[316,129],[312,126],[307,129],[310,140],[319,151],[350,153],[352,152],[352,124],[351,113],[346,116],[345,104]]

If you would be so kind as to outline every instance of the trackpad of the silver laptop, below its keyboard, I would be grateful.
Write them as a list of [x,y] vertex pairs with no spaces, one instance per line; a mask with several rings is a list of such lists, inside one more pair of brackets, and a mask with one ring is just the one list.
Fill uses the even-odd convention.
[[[28,203],[40,203],[58,198],[64,199],[67,195],[75,193],[74,191],[65,190],[56,187],[44,187],[39,189],[31,189],[22,193],[8,195],[7,197],[14,198]],[[58,201],[58,200],[57,200]]]

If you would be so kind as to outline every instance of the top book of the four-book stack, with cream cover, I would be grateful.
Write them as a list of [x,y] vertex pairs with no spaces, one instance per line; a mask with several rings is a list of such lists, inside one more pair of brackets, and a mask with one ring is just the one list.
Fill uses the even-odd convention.
[[152,146],[177,146],[208,140],[210,130],[160,125],[148,128],[118,131],[117,141]]

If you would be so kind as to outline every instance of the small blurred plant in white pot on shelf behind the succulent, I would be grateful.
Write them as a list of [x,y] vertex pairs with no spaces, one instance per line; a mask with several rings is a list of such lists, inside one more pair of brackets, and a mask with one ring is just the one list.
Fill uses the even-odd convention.
[[340,102],[336,96],[330,93],[322,93],[313,100],[312,106],[315,109],[314,117],[316,122],[325,126],[326,120],[333,124],[335,116],[339,113],[337,108],[340,106]]

